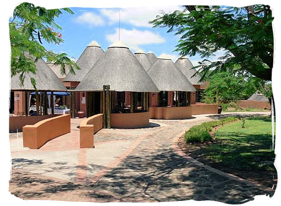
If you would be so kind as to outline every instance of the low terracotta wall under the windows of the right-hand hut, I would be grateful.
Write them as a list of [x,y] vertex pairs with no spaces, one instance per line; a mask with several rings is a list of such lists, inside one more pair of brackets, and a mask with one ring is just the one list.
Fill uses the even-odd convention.
[[192,116],[192,107],[150,107],[153,119],[186,119]]

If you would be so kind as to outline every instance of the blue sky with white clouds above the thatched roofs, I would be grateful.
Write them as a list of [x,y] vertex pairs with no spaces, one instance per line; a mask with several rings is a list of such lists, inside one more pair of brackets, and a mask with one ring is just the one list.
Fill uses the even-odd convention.
[[[64,43],[59,45],[46,44],[47,49],[56,53],[65,52],[69,57],[78,59],[85,47],[93,40],[97,41],[106,50],[107,47],[119,39],[119,8],[71,8],[74,15],[64,13],[56,22],[62,27]],[[136,7],[121,9],[120,40],[124,41],[134,53],[141,48],[153,51],[156,56],[165,53],[173,61],[178,58],[178,53],[173,52],[179,36],[167,33],[167,28],[152,28],[148,23],[160,11],[173,12],[182,10],[181,6],[162,7]],[[222,52],[218,53],[220,56]],[[212,59],[217,59],[215,56]],[[200,61],[198,55],[190,57],[194,65]]]

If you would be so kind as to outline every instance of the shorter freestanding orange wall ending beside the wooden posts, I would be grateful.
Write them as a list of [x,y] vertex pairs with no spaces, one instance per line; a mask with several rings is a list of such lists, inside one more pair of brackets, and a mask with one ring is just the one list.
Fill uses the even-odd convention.
[[93,148],[93,135],[103,127],[103,114],[93,115],[80,123],[80,148]]

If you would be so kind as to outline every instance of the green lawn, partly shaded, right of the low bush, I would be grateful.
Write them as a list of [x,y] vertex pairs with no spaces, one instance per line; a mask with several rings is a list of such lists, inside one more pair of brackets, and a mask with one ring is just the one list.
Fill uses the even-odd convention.
[[222,144],[201,147],[205,158],[239,170],[273,171],[271,117],[255,116],[221,126],[215,137]]

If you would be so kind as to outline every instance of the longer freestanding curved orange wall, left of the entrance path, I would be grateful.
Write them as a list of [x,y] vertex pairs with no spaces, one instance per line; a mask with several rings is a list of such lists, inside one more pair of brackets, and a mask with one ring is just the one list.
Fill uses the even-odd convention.
[[22,127],[24,147],[38,149],[51,139],[70,132],[71,115],[63,114]]

